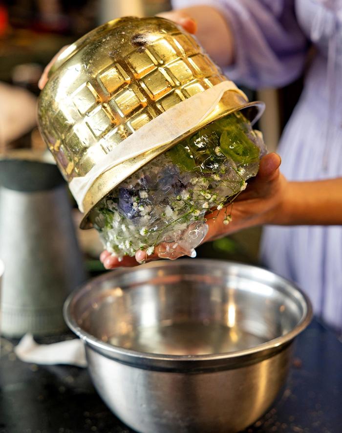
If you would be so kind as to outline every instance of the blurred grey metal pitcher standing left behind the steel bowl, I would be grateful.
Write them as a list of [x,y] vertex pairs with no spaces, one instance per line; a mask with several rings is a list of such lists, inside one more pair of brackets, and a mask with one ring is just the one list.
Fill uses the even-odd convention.
[[2,326],[20,337],[64,330],[66,296],[85,281],[65,182],[55,165],[0,160]]

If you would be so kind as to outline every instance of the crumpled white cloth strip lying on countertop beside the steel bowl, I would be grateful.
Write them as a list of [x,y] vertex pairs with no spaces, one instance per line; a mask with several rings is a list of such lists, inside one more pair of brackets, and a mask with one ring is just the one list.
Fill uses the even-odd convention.
[[31,334],[26,334],[14,348],[14,352],[21,361],[32,364],[87,366],[85,347],[79,338],[40,345],[34,341]]

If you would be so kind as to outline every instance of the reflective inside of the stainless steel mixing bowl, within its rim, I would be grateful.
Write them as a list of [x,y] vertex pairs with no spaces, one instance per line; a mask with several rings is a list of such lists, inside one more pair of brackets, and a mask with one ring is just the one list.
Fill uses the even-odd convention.
[[78,324],[113,346],[206,355],[258,346],[300,322],[303,300],[274,274],[234,264],[227,272],[203,263],[107,274],[97,287],[91,283],[91,299],[77,303]]

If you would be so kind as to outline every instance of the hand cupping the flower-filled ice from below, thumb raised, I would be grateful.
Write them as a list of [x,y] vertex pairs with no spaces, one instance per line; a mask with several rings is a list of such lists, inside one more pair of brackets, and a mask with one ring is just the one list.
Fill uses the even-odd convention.
[[[236,198],[234,203],[206,215],[209,230],[203,242],[222,238],[247,227],[286,223],[282,207],[286,200],[288,183],[279,172],[279,166],[278,154],[265,155],[260,160],[256,177],[248,182],[247,189]],[[231,216],[232,221],[225,225],[227,215]],[[158,245],[154,254],[150,256],[147,256],[146,251],[139,250],[135,257],[124,257],[122,261],[108,251],[104,251],[100,260],[107,269],[136,266],[142,262],[157,260],[158,253],[164,249],[165,244]]]

